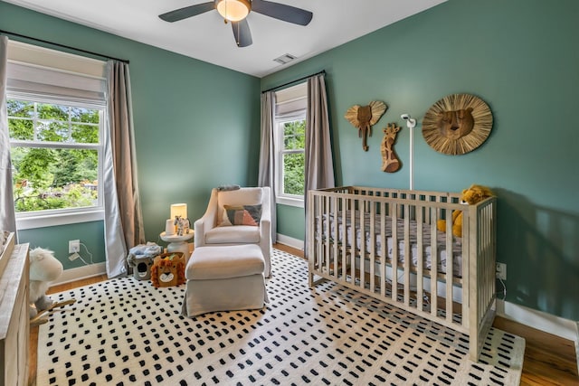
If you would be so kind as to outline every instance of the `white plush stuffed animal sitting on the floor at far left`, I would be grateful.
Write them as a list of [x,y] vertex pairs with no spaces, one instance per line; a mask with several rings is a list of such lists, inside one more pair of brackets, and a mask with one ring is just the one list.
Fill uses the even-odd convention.
[[35,248],[29,253],[29,315],[31,325],[42,325],[48,322],[48,312],[54,307],[66,306],[75,302],[74,299],[54,302],[46,296],[46,291],[52,281],[62,275],[62,263],[54,257],[50,249]]

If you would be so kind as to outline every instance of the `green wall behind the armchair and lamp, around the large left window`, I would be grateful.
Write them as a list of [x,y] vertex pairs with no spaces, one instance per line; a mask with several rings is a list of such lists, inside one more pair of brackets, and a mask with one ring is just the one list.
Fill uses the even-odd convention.
[[[0,29],[130,61],[147,240],[165,245],[158,234],[165,231],[171,203],[187,202],[189,217],[196,219],[214,186],[257,183],[258,78],[4,2]],[[97,224],[102,228],[102,221]],[[65,268],[77,267],[66,259],[68,240],[93,246],[95,261],[104,260],[103,231],[92,224],[20,231],[19,237],[62,253]]]

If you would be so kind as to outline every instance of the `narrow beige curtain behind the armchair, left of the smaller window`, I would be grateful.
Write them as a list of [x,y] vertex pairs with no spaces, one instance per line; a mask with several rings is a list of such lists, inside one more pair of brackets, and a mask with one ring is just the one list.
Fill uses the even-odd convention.
[[275,92],[267,91],[261,94],[261,146],[259,186],[269,186],[271,192],[271,241],[277,241],[278,229],[276,226],[275,205],[275,167],[274,167],[274,140],[273,122],[275,116]]

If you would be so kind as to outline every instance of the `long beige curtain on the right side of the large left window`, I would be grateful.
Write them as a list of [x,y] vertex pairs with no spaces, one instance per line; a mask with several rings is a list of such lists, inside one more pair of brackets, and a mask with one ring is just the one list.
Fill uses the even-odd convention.
[[145,243],[128,64],[108,62],[109,129],[105,130],[105,244],[109,278],[127,274],[128,249]]

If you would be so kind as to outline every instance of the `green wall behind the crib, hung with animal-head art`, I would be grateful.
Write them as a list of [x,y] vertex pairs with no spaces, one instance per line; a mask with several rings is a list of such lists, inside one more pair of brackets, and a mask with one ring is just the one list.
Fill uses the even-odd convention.
[[[414,188],[494,189],[507,300],[579,320],[577,20],[576,0],[450,0],[265,77],[261,89],[327,71],[337,184],[408,188],[410,141],[400,115],[418,118]],[[488,140],[467,155],[441,155],[422,138],[424,113],[452,93],[477,95],[493,113]],[[343,117],[371,100],[389,108],[364,152]],[[403,127],[394,146],[403,167],[394,174],[380,169],[389,122]],[[303,234],[303,211],[283,213],[279,229]]]

